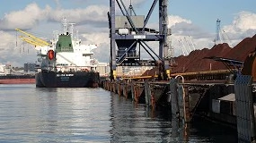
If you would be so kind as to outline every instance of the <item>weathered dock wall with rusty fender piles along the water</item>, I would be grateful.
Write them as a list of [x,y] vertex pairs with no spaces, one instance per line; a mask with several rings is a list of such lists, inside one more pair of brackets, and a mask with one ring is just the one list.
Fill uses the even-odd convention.
[[198,115],[232,126],[242,140],[252,140],[255,135],[254,87],[252,77],[243,75],[234,82],[179,78],[159,81],[148,77],[102,81],[102,88],[136,104],[146,104],[153,111],[159,106],[169,106],[172,118],[185,124]]

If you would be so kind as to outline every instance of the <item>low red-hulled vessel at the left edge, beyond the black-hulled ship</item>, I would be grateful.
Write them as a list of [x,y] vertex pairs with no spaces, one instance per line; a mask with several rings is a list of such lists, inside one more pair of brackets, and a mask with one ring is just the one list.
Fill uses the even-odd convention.
[[35,74],[13,72],[10,64],[0,65],[0,84],[34,84]]

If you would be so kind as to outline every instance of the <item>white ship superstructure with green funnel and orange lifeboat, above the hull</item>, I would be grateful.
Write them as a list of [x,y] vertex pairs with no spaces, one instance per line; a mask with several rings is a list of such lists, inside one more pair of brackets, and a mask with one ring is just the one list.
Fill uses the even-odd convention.
[[[54,38],[51,40],[51,46],[40,46],[38,52],[38,61],[40,62],[39,70],[94,71],[98,62],[93,58],[93,50],[97,46],[81,44],[81,39],[78,38],[78,32],[75,35],[73,34],[74,23],[68,23],[66,19],[63,19],[62,24],[64,28],[63,34],[57,34],[55,31]],[[70,38],[71,41],[68,43]],[[63,45],[66,47],[63,47]],[[51,51],[54,52],[52,59]]]

